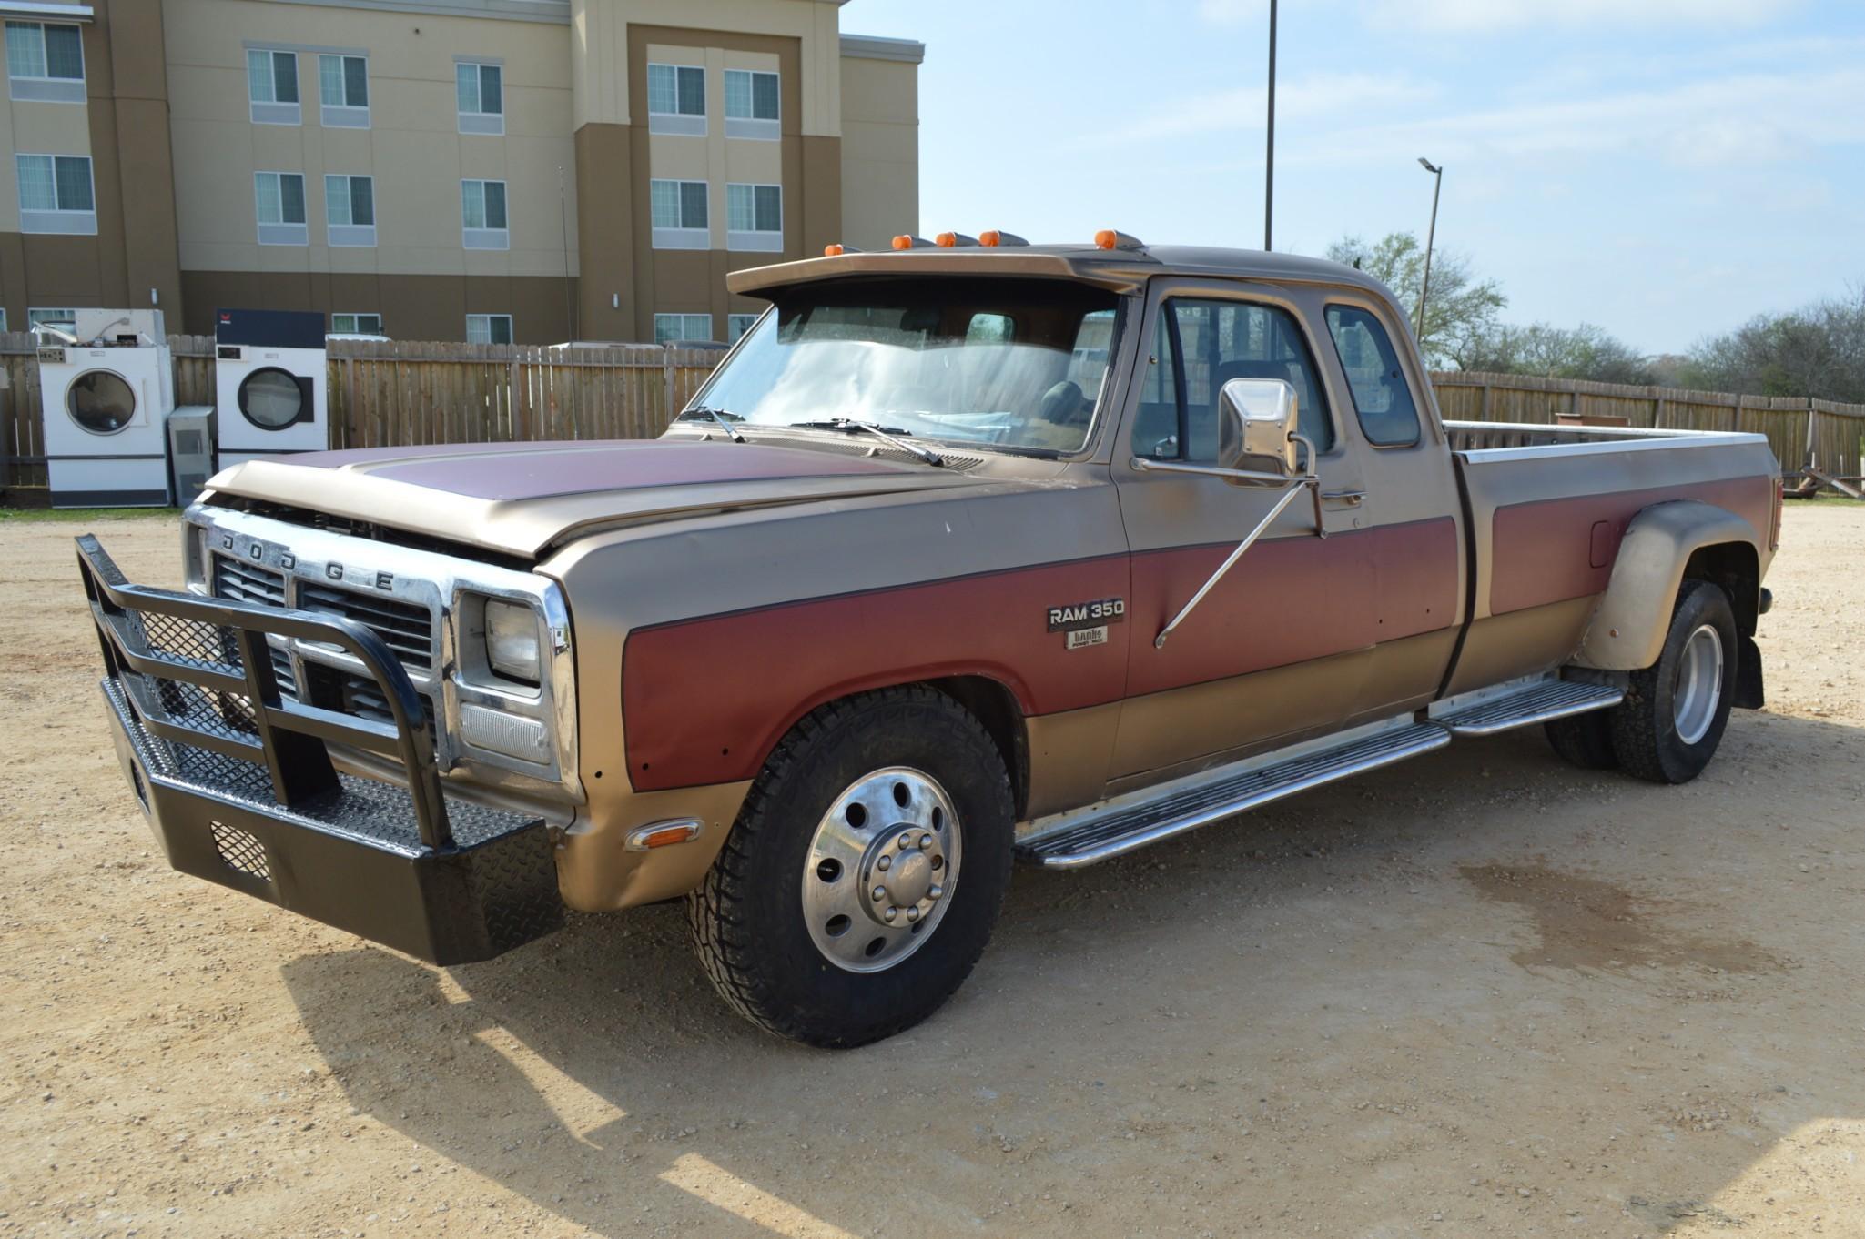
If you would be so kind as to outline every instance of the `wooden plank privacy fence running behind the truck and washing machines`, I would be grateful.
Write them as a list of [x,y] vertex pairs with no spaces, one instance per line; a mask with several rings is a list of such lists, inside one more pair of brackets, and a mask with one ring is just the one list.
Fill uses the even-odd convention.
[[[214,341],[170,335],[175,402],[214,404]],[[651,438],[666,429],[724,356],[722,345],[446,345],[330,341],[330,445],[502,443]],[[39,361],[26,332],[0,334],[0,483],[45,484]],[[1453,421],[1552,423],[1561,414],[1619,415],[1634,427],[1757,430],[1783,470],[1818,462],[1858,477],[1865,404],[1678,388],[1440,371],[1438,406]]]

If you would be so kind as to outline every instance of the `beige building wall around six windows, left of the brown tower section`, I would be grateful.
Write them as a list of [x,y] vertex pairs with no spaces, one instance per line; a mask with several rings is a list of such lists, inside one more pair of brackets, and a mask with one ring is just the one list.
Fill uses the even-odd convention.
[[[185,268],[574,276],[563,26],[250,0],[164,0],[164,15]],[[298,52],[298,125],[252,123],[250,45]],[[319,123],[319,50],[367,52],[369,129]],[[505,136],[459,132],[455,56],[502,61]],[[308,246],[257,242],[256,171],[304,175]],[[373,250],[325,244],[325,173],[375,179]],[[463,179],[505,183],[509,250],[461,244]]]

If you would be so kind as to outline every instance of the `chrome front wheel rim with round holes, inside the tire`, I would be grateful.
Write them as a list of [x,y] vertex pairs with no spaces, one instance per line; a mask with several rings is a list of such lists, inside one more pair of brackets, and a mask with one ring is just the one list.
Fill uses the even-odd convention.
[[938,779],[890,766],[854,781],[804,855],[809,941],[836,967],[880,973],[932,937],[959,881],[959,814]]

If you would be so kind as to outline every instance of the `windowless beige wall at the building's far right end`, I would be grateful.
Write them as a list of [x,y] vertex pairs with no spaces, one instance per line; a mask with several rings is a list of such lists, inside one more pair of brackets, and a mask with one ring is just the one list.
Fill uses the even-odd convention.
[[841,108],[841,240],[886,250],[919,231],[919,65],[843,56]]

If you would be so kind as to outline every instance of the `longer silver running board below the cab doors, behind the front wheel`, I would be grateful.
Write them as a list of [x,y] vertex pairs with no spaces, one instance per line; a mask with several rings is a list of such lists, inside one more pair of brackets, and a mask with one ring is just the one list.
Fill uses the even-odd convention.
[[1300,753],[1251,764],[1240,773],[1182,781],[1186,786],[1177,792],[1149,788],[1140,794],[1147,797],[1140,803],[1121,805],[1119,801],[1128,797],[1119,797],[1067,814],[1018,840],[1016,855],[1046,868],[1095,865],[1246,809],[1442,749],[1451,743],[1451,732],[1436,723],[1404,719],[1361,728],[1356,740],[1343,742],[1339,736],[1332,740],[1330,747],[1302,745]]

